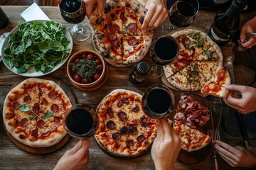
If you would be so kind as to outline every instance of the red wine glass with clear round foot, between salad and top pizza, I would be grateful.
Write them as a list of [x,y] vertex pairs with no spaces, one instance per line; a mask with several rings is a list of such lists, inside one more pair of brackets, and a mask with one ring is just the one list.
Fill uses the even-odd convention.
[[90,37],[89,26],[80,24],[86,16],[83,0],[58,0],[58,9],[65,21],[75,23],[71,30],[71,35],[75,40],[84,41]]

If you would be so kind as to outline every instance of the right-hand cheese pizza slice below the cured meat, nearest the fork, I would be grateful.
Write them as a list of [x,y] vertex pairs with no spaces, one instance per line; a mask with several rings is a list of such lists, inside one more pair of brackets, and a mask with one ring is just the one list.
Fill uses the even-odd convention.
[[203,147],[206,147],[210,141],[211,137],[209,135],[206,135],[197,129],[191,129],[188,152],[202,149]]

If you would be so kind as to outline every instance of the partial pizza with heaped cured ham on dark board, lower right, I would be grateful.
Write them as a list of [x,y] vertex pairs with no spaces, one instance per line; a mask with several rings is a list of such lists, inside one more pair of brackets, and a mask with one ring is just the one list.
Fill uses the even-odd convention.
[[211,137],[197,128],[203,127],[210,120],[209,110],[198,103],[192,96],[183,95],[174,115],[174,132],[181,139],[181,148],[193,152],[206,147]]

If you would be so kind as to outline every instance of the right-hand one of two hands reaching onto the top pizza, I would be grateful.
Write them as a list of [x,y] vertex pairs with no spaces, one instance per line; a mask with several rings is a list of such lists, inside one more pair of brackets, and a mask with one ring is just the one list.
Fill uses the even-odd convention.
[[148,0],[145,8],[148,11],[142,24],[142,33],[160,26],[168,17],[166,0]]

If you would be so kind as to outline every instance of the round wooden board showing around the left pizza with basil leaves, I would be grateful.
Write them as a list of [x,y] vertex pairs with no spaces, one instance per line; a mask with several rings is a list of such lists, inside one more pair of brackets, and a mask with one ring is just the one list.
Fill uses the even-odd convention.
[[[28,78],[23,78],[23,79],[16,81],[16,83],[14,83],[14,85],[11,86],[11,89],[14,89],[15,86],[20,84],[25,79],[28,79]],[[48,80],[54,81],[56,84],[58,84],[63,89],[63,91],[65,91],[65,94],[67,94],[67,96],[70,98],[70,102],[72,103],[72,105],[75,105],[77,103],[75,94],[73,94],[73,91],[71,91],[69,86],[64,84],[63,81],[60,81],[53,77],[39,77],[39,79],[48,79]],[[9,91],[11,91],[11,89],[9,89]],[[5,124],[4,124],[4,129],[6,130]],[[6,134],[9,137],[9,139],[11,140],[11,142],[14,142],[14,145],[16,145],[16,147],[18,147],[19,149],[21,149],[23,151],[32,153],[32,154],[48,154],[51,152],[55,152],[56,150],[63,147],[71,138],[70,135],[67,134],[67,135],[65,135],[65,137],[63,137],[62,140],[60,140],[60,142],[58,142],[57,144],[55,144],[51,147],[30,147],[30,146],[24,145],[23,143],[16,140],[7,130],[6,130]]]

